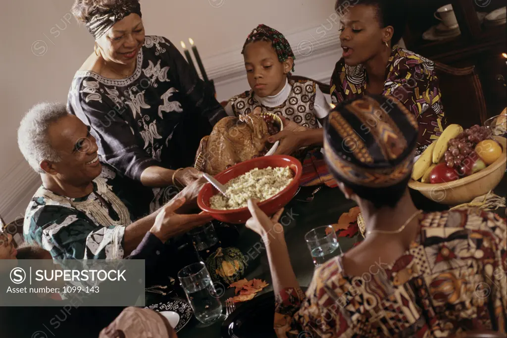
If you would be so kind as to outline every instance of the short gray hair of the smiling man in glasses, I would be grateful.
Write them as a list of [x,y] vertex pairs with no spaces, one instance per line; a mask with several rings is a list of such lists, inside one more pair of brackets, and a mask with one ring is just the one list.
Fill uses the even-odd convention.
[[19,150],[38,173],[44,173],[40,166],[42,161],[60,161],[49,142],[48,129],[53,122],[67,115],[65,104],[44,102],[35,104],[21,120],[18,129]]

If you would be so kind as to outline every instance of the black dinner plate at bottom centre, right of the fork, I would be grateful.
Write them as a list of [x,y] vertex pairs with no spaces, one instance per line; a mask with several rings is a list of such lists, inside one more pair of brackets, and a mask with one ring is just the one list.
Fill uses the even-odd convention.
[[251,301],[237,303],[236,310],[222,324],[222,337],[276,338],[273,329],[274,316],[274,292],[261,294]]

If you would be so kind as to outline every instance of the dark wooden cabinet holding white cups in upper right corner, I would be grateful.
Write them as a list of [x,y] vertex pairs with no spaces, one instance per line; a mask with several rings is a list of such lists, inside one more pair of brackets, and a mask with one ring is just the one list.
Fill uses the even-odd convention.
[[[507,53],[505,24],[490,26],[481,17],[504,7],[505,0],[409,0],[407,3],[404,35],[407,49],[452,67],[475,66],[486,99],[487,116],[500,114],[507,99],[507,59],[502,56]],[[422,34],[439,23],[433,13],[447,4],[453,6],[461,34],[440,41],[424,40]],[[456,99],[466,100],[466,97]]]

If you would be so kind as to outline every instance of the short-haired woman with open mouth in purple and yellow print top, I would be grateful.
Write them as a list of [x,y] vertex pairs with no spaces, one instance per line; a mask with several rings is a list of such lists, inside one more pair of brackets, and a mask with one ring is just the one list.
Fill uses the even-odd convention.
[[333,103],[392,95],[419,124],[416,155],[446,127],[441,93],[430,60],[398,48],[405,29],[405,0],[337,0],[342,58],[331,77]]

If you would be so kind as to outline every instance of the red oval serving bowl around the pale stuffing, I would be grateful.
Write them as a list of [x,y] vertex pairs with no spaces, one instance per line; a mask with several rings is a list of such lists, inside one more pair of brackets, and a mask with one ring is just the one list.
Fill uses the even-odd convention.
[[[256,159],[238,163],[229,169],[216,174],[214,178],[216,178],[216,180],[220,183],[226,184],[231,179],[241,176],[252,169],[264,169],[267,167],[289,167],[294,173],[294,178],[291,183],[289,183],[281,192],[266,201],[259,203],[259,207],[262,211],[264,211],[267,215],[273,215],[280,208],[287,205],[298,191],[299,180],[301,179],[303,167],[301,166],[301,162],[299,162],[296,158],[284,155],[258,157]],[[216,190],[213,185],[210,183],[205,184],[197,196],[197,205],[199,208],[209,213],[213,216],[213,218],[223,222],[233,224],[246,223],[248,218],[251,216],[247,207],[232,210],[212,209],[209,206],[209,199],[216,194],[220,194],[220,192]]]

